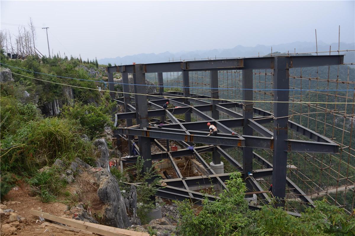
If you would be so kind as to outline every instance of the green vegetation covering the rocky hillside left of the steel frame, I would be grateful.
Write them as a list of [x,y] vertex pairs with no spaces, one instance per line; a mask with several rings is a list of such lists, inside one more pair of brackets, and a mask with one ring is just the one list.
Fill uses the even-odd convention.
[[[60,175],[71,161],[80,158],[93,165],[93,145],[84,142],[81,136],[87,134],[92,139],[97,138],[106,126],[113,127],[110,111],[115,104],[106,92],[100,94],[81,88],[73,89],[75,100],[69,101],[64,86],[40,81],[89,88],[97,88],[96,84],[102,86],[101,82],[56,77],[93,80],[89,71],[78,67],[79,59],[28,56],[21,61],[1,56],[1,63],[27,70],[9,67],[15,81],[2,82],[0,87],[1,198],[18,181],[23,181],[32,186],[33,194],[39,195],[42,201],[56,201],[58,196],[66,195],[66,180]],[[95,61],[84,65],[98,67]],[[31,96],[24,96],[24,91]],[[44,117],[40,108],[53,99],[70,105],[63,105],[61,116]],[[66,166],[51,167],[56,159]]]

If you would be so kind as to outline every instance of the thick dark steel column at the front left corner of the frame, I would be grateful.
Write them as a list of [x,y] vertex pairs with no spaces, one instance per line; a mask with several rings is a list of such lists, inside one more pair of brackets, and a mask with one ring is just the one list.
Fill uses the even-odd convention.
[[[133,74],[133,79],[135,79],[136,90],[135,90],[135,103],[136,103],[136,111],[138,112],[138,116],[140,119],[140,127],[141,129],[146,129],[149,126],[148,122],[148,105],[147,105],[147,87],[140,86],[146,85],[146,75],[143,71],[142,64],[136,64],[135,72]],[[134,76],[135,75],[135,76]],[[138,105],[139,104],[139,105]],[[138,107],[138,109],[137,109]],[[139,139],[139,152],[144,160],[144,169],[143,171],[146,172],[148,169],[152,167],[152,151],[151,151],[151,142],[149,137],[140,137]]]

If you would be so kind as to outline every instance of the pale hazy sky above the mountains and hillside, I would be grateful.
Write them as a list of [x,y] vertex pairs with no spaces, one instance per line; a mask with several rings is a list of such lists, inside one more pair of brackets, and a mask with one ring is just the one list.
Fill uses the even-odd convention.
[[[1,29],[32,17],[37,48],[90,59],[138,53],[355,41],[355,1],[1,1]],[[9,25],[15,24],[15,25]]]

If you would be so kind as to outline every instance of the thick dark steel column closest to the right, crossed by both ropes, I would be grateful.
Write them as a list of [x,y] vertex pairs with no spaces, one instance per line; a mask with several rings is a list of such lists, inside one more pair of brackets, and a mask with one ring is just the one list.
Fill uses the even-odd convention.
[[[275,57],[274,69],[274,153],[272,173],[272,193],[277,198],[285,198],[287,133],[289,109],[289,69],[286,57]],[[279,103],[281,102],[281,103]],[[278,118],[283,117],[283,118]],[[279,202],[284,205],[284,201]]]

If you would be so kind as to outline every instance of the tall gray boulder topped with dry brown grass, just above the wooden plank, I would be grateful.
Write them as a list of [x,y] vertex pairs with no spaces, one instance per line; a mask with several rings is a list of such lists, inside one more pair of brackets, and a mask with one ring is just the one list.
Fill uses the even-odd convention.
[[118,182],[106,168],[91,168],[88,173],[99,185],[97,195],[105,203],[104,222],[106,225],[125,229],[130,226],[124,198]]

